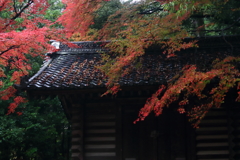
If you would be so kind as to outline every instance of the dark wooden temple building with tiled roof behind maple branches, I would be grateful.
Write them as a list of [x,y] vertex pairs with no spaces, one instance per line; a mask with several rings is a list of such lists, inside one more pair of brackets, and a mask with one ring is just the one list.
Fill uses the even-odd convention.
[[[21,83],[30,97],[58,96],[71,122],[72,160],[239,160],[240,112],[235,101],[212,109],[193,129],[175,107],[133,124],[146,99],[184,65],[209,66],[217,57],[240,52],[240,37],[199,39],[198,48],[166,58],[146,49],[142,66],[122,77],[117,96],[103,96],[105,75],[95,66],[106,51],[102,42],[60,45],[33,77]],[[136,62],[137,63],[137,62]],[[225,106],[225,107],[224,107]]]

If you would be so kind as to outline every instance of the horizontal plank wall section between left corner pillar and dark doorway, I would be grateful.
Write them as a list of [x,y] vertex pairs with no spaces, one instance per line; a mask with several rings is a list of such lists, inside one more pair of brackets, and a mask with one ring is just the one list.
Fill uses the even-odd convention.
[[84,159],[116,160],[116,105],[114,103],[88,103],[84,114]]

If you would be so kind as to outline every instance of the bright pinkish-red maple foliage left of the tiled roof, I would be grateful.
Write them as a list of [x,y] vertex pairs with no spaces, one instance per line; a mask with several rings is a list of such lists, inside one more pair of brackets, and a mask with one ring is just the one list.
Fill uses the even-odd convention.
[[0,99],[9,100],[7,114],[26,102],[15,95],[13,84],[29,73],[29,57],[43,56],[53,50],[49,40],[62,38],[63,31],[44,17],[49,6],[45,0],[0,1]]

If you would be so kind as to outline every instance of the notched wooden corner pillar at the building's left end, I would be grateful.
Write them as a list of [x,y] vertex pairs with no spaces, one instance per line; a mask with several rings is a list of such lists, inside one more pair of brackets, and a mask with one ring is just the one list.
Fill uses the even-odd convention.
[[83,160],[83,106],[73,104],[71,115],[72,160]]

